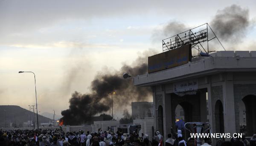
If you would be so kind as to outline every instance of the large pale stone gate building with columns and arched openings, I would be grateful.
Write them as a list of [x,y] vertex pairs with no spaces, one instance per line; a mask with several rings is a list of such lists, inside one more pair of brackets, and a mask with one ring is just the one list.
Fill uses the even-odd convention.
[[177,105],[183,108],[185,122],[209,121],[212,133],[231,134],[239,133],[240,125],[246,123],[251,136],[256,132],[255,62],[256,51],[218,51],[135,75],[134,85],[151,87],[154,126],[164,138],[175,127]]

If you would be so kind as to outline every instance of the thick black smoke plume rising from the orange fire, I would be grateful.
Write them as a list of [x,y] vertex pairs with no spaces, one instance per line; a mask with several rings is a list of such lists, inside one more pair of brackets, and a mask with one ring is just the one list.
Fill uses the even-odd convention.
[[77,125],[90,121],[90,117],[98,113],[106,112],[111,107],[111,95],[114,103],[118,103],[119,109],[131,104],[131,101],[145,101],[151,93],[149,87],[135,87],[133,79],[123,79],[123,73],[129,73],[132,76],[145,74],[148,71],[147,57],[156,54],[153,51],[144,52],[139,56],[133,65],[123,65],[121,70],[104,70],[99,73],[91,82],[90,93],[81,94],[75,92],[70,98],[69,109],[61,112],[64,124]]

